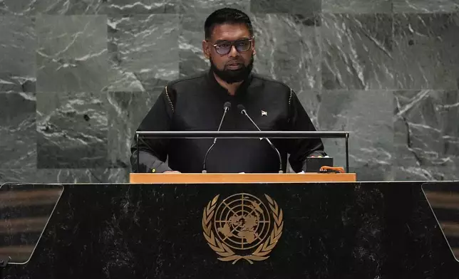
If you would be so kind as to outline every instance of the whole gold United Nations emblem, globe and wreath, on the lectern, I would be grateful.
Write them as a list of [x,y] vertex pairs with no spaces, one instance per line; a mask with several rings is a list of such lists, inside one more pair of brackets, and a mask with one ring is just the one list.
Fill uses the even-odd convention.
[[202,214],[205,239],[218,259],[234,264],[240,259],[254,263],[269,258],[284,227],[282,209],[276,201],[265,194],[266,206],[257,196],[242,193],[217,203],[219,196]]

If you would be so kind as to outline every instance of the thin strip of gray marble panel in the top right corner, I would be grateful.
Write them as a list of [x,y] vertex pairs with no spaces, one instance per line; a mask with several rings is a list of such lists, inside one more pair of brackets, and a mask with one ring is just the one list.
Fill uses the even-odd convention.
[[392,0],[394,13],[444,13],[459,11],[458,0]]

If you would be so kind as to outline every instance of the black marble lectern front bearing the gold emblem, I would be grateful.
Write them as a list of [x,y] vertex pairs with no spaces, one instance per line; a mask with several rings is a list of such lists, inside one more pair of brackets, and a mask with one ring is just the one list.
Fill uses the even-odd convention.
[[422,184],[64,184],[30,260],[3,275],[459,278]]

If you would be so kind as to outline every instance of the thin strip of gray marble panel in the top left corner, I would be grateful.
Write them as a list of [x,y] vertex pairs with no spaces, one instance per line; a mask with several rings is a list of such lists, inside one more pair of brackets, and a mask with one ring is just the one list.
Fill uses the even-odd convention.
[[0,14],[96,14],[105,0],[0,0]]

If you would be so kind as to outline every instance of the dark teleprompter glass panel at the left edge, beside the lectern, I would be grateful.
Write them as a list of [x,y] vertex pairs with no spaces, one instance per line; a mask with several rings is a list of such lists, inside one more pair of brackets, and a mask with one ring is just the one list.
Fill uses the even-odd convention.
[[29,261],[62,192],[58,184],[0,186],[0,260]]

